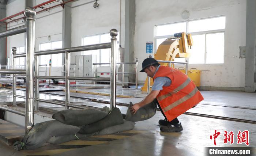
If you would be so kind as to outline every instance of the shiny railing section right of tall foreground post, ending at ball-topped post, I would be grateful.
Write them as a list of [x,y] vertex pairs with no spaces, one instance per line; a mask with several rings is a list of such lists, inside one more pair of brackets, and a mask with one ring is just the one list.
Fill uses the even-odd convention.
[[[111,78],[106,78],[106,77],[71,77],[70,76],[70,66],[71,65],[76,65],[76,64],[70,64],[71,60],[71,53],[72,52],[79,52],[79,51],[86,51],[86,50],[96,50],[96,49],[106,49],[106,48],[111,48],[113,53],[116,53],[116,35],[117,35],[117,30],[112,29],[110,30],[110,35],[111,35],[111,43],[102,43],[102,44],[95,44],[95,45],[87,45],[87,46],[79,46],[79,47],[72,47],[72,48],[65,48],[65,49],[54,49],[54,50],[45,50],[45,51],[40,51],[40,52],[35,52],[35,111],[39,110],[38,102],[48,102],[48,103],[54,103],[54,104],[59,104],[62,106],[65,106],[65,109],[69,109],[69,107],[75,107],[74,105],[70,104],[70,80],[100,80],[100,81],[110,81],[112,82],[110,88],[115,88],[116,81]],[[39,76],[38,75],[38,57],[41,55],[48,55],[48,54],[58,54],[58,53],[65,53],[65,76]],[[111,57],[114,57],[114,54],[111,55]],[[116,58],[116,57],[114,57]],[[112,62],[112,64],[116,63],[115,61]],[[115,69],[111,69],[112,73],[115,73]],[[113,74],[115,75],[115,74]],[[39,86],[38,86],[38,79],[65,79],[65,103],[59,103],[59,102],[54,102],[53,100],[44,100],[44,99],[39,99]],[[114,89],[115,90],[115,89]],[[110,93],[110,95],[116,95],[116,92],[113,91]],[[110,103],[110,108],[116,107],[116,100],[114,100],[112,103]]]

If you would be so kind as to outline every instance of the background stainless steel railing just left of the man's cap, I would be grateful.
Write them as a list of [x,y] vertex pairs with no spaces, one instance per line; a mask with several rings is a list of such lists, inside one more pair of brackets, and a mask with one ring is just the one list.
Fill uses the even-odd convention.
[[[138,61],[139,59],[136,58],[136,62],[118,62],[116,64],[121,64],[122,65],[122,72],[117,72],[117,74],[122,74],[122,81],[121,82],[116,82],[116,83],[122,83],[122,86],[124,86],[124,83],[130,83],[130,84],[135,84],[135,88],[138,89]],[[124,65],[125,64],[135,64],[135,72],[124,72]],[[94,65],[94,77],[97,76],[97,73],[107,73],[109,74],[110,72],[95,72],[95,65],[110,65],[110,63],[93,63]],[[124,75],[125,74],[135,74],[135,82],[124,82]]]

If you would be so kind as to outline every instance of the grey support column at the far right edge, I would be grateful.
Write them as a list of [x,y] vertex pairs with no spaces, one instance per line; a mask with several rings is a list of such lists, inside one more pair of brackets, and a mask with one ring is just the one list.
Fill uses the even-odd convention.
[[256,1],[246,3],[246,58],[245,58],[245,91],[256,90]]

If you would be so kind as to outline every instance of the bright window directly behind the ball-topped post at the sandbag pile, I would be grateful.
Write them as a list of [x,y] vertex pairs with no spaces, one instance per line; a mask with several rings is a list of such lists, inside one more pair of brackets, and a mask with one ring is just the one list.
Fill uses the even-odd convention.
[[[93,45],[99,43],[111,42],[111,36],[109,33],[93,35],[82,38],[82,45]],[[119,47],[119,33],[117,35],[117,48]],[[110,62],[110,49],[88,50],[84,51],[83,55],[94,54],[97,55],[97,63],[109,63]],[[117,54],[117,62],[120,62],[119,53]]]

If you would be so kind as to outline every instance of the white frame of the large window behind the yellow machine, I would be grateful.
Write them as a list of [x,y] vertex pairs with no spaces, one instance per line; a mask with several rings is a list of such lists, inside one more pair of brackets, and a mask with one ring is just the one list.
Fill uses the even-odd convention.
[[[187,34],[191,34],[192,35],[192,38],[193,38],[193,35],[204,35],[204,63],[203,64],[190,64],[190,65],[196,65],[196,66],[202,66],[202,65],[224,65],[225,64],[225,29],[216,29],[216,30],[207,30],[207,31],[198,31],[198,32],[193,32],[193,33],[189,33],[188,32],[188,27],[189,27],[189,22],[192,22],[192,21],[196,21],[196,20],[204,20],[204,19],[211,19],[211,18],[219,18],[219,17],[225,17],[225,29],[226,29],[226,16],[225,15],[221,15],[221,16],[212,16],[212,17],[208,17],[208,18],[199,18],[199,19],[193,19],[193,20],[185,20],[185,21],[181,21],[181,22],[173,22],[173,23],[166,23],[166,24],[159,24],[159,25],[155,25],[154,26],[154,54],[157,52],[157,48],[156,47],[156,43],[157,43],[157,39],[162,39],[162,38],[170,38],[170,37],[174,37],[174,34],[173,35],[164,35],[164,36],[156,36],[157,32],[156,32],[156,29],[157,29],[157,26],[163,26],[163,25],[169,25],[169,24],[177,24],[177,23],[184,23],[186,22],[186,33]],[[177,32],[177,33],[180,33],[180,32]],[[215,34],[215,33],[223,33],[224,35],[224,52],[223,52],[223,63],[214,63],[214,64],[207,64],[206,63],[206,35],[207,34]],[[185,58],[185,61],[188,61],[188,58]],[[179,65],[179,64],[177,64]]]

